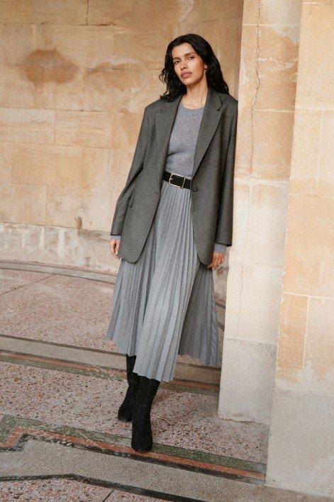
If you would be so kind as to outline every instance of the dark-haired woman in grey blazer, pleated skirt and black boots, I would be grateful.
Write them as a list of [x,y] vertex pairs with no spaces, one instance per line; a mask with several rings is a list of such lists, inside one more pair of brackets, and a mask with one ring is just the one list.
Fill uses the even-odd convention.
[[152,448],[152,401],[177,354],[221,361],[212,269],[232,244],[238,101],[192,33],[169,43],[160,79],[167,90],[145,107],[110,241],[123,260],[106,338],[126,354],[118,418],[132,420],[140,452]]

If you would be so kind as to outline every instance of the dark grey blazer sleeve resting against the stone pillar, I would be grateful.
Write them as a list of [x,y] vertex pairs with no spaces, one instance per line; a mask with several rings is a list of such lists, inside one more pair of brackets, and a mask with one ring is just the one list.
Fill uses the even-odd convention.
[[226,155],[226,164],[221,185],[221,195],[218,208],[217,227],[215,242],[232,245],[232,227],[233,227],[233,177],[235,162],[235,143],[237,136],[238,122],[238,104],[230,128],[230,140],[228,142],[228,152]]

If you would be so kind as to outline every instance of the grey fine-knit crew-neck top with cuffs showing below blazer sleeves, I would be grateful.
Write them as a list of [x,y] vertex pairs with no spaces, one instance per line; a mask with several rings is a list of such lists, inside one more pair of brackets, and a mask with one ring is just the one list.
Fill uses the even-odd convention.
[[[194,167],[195,148],[199,126],[204,112],[201,108],[186,108],[182,101],[179,102],[175,117],[172,134],[169,138],[166,171],[176,172],[184,177],[191,178]],[[111,235],[111,238],[120,239],[121,235]],[[226,252],[226,245],[216,242],[214,250]]]

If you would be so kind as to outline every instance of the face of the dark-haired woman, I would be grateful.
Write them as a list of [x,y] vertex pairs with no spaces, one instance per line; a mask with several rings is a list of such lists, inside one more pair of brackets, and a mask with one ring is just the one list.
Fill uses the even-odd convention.
[[205,78],[208,67],[189,43],[182,43],[172,49],[174,70],[182,84],[194,85]]

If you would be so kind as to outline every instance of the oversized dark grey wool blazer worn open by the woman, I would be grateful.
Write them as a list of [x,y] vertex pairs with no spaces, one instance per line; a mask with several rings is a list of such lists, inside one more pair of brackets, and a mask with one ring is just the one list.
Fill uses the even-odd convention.
[[[136,262],[160,199],[169,138],[182,96],[147,105],[133,162],[118,196],[110,235],[121,235],[118,256]],[[238,101],[208,88],[191,175],[191,211],[199,260],[209,264],[215,242],[232,245],[233,174]]]

